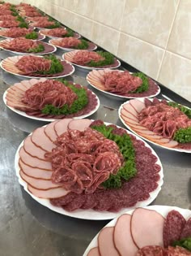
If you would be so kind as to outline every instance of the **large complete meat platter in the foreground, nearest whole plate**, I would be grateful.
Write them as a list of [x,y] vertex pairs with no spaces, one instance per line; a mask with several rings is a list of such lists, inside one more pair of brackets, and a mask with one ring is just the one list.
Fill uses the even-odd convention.
[[[116,126],[113,127],[113,125],[110,126],[110,128],[109,126],[105,127],[104,124],[108,125],[108,123],[103,123],[102,121],[92,121],[90,119],[62,119],[47,126],[37,128],[19,145],[17,153],[15,154],[15,171],[16,175],[19,177],[19,183],[37,202],[47,206],[50,210],[54,210],[62,215],[68,215],[79,219],[113,219],[127,210],[134,209],[135,206],[142,207],[150,204],[155,197],[157,197],[163,184],[163,167],[160,163],[159,157],[155,154],[155,151],[146,144],[146,142],[142,141],[142,139],[139,137],[133,136],[131,132],[127,132],[125,129],[117,128]],[[94,128],[91,128],[90,125]],[[62,180],[65,183],[65,189],[63,189],[60,183],[61,180],[59,181],[59,184],[56,184],[57,178],[60,179],[62,177],[61,174],[58,174],[59,171],[54,172],[54,175],[52,176],[53,168],[55,167],[54,164],[56,164],[56,162],[53,160],[54,164],[53,167],[51,167],[50,162],[45,160],[45,158],[54,158],[52,154],[57,152],[59,148],[55,147],[53,141],[59,141],[62,140],[62,138],[64,141],[67,141],[65,138],[68,136],[68,138],[72,136],[73,139],[76,140],[75,145],[80,145],[81,151],[86,152],[85,145],[82,143],[87,141],[85,144],[91,144],[93,137],[94,139],[98,140],[101,136],[101,140],[103,139],[102,134],[97,132],[95,130],[95,126],[92,125],[96,125],[96,127],[99,126],[99,128],[103,128],[104,126],[107,128],[107,131],[108,129],[110,129],[110,131],[113,129],[113,131],[118,133],[117,136],[123,136],[123,138],[129,137],[130,140],[134,141],[133,146],[136,151],[136,167],[138,168],[138,172],[134,178],[131,178],[131,180],[128,182],[124,182],[121,188],[106,190],[103,190],[103,188],[100,189],[100,187],[98,189],[98,186],[103,183],[103,180],[108,179],[108,176],[105,176],[108,171],[102,171],[100,174],[94,176],[93,180],[92,178],[89,180],[84,176],[81,176],[80,179],[84,180],[83,186],[82,180],[80,181],[79,177],[75,178],[75,181],[72,181],[73,179],[70,180],[68,175],[72,175],[73,172],[67,172],[66,176],[68,176],[68,178],[64,178],[64,176],[62,178],[65,180]],[[85,137],[87,139],[85,139]],[[117,170],[116,167],[119,167],[119,158],[113,158],[114,154],[112,153],[114,147],[116,150],[118,149],[116,144],[114,141],[108,139],[102,141],[101,143],[106,143],[105,146],[109,146],[110,156],[108,157],[110,158],[110,163],[112,163],[110,168],[112,168],[113,171]],[[72,140],[68,145],[73,145]],[[96,144],[94,144],[94,148],[95,145]],[[52,149],[54,150],[52,151]],[[106,148],[105,151],[107,151]],[[91,153],[92,152],[93,151],[91,151]],[[118,151],[115,152],[118,155]],[[103,154],[104,156],[108,155],[107,152]],[[112,157],[111,154],[113,154]],[[75,158],[74,165],[78,163],[77,159],[80,157],[80,155],[82,157],[82,154],[75,154],[74,156],[72,153],[66,153],[67,158],[69,155],[70,159]],[[86,154],[86,158],[88,158],[88,160],[81,158],[83,159],[83,163],[86,163],[86,161],[90,161],[92,164],[97,163],[98,158],[92,160],[93,158],[89,157]],[[113,163],[113,161],[115,163]],[[90,163],[87,163],[87,167],[90,167]],[[80,164],[82,164],[82,162],[80,162]],[[63,171],[63,168],[67,168],[68,166],[66,163],[64,165],[59,163],[59,165],[61,167],[60,171]],[[81,168],[82,167],[80,167],[80,169]],[[133,169],[131,169],[131,171],[133,171]],[[89,172],[87,171],[87,173]],[[90,173],[88,175],[91,176]],[[117,175],[117,177],[119,177],[119,175],[120,173]],[[50,180],[50,176],[53,177],[54,183]],[[97,176],[100,176],[100,178],[97,179]],[[91,180],[92,182],[90,183]],[[112,184],[114,183],[112,183],[110,180],[109,185],[111,186]],[[126,188],[125,184],[127,184]],[[86,193],[84,193],[85,188]],[[128,189],[129,194],[127,192]],[[76,193],[74,193],[74,191]],[[100,199],[96,199],[99,197]]]

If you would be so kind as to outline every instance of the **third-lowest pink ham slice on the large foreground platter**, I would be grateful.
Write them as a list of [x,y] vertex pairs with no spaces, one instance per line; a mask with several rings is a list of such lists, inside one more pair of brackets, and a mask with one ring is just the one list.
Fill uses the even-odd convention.
[[53,171],[46,171],[40,168],[29,167],[27,164],[23,163],[21,158],[19,158],[19,167],[22,169],[24,174],[36,179],[50,180],[53,173]]

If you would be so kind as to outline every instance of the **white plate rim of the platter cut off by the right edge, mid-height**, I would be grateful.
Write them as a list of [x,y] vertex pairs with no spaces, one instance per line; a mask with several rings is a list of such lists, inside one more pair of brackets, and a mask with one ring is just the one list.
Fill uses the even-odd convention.
[[[144,98],[138,98],[139,101],[144,102]],[[150,98],[151,101],[153,101],[153,98]],[[123,108],[123,105],[125,104],[129,104],[129,101],[124,102],[123,104],[121,104],[119,111],[118,111],[118,115],[119,118],[121,119],[121,122],[126,126],[126,128],[128,128],[131,132],[134,132],[134,134],[138,135],[138,137],[142,137],[140,134],[138,134],[138,132],[135,132],[133,128],[129,127],[128,124],[125,123],[124,119],[121,118],[121,109]],[[142,126],[143,127],[143,126]],[[147,139],[146,137],[142,137],[142,139],[144,139],[145,141],[149,141],[154,145],[158,145],[160,147],[162,147],[163,149],[166,150],[172,150],[172,151],[177,151],[177,152],[185,152],[185,153],[191,153],[191,150],[185,150],[185,149],[177,149],[177,148],[169,148],[167,146],[164,145],[159,145],[158,143],[154,142],[154,141],[150,141],[149,139]]]

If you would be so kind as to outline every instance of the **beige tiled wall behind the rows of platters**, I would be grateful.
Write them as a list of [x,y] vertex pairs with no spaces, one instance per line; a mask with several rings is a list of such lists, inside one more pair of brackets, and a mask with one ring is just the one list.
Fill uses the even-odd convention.
[[191,101],[191,0],[25,2]]

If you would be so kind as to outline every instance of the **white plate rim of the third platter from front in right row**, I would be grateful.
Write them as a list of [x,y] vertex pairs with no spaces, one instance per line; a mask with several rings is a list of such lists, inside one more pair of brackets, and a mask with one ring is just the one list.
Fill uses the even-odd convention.
[[[111,69],[104,69],[104,71],[105,72],[112,72]],[[117,71],[118,72],[124,72],[123,70],[117,70]],[[94,71],[91,71],[91,72],[94,72]],[[87,83],[89,85],[91,85],[93,88],[98,89],[100,92],[108,94],[109,96],[113,96],[113,97],[117,97],[117,98],[121,98],[121,99],[125,99],[125,98],[139,98],[139,97],[131,97],[131,96],[122,96],[122,95],[118,95],[116,93],[109,93],[107,91],[104,91],[103,89],[98,88],[96,85],[94,85],[92,82],[90,82],[90,80],[91,80],[91,72],[89,72],[87,74]],[[130,72],[130,74],[132,74],[132,72]],[[157,84],[155,84],[155,85],[157,85]],[[151,94],[149,96],[146,96],[146,98],[152,98],[152,97],[155,97],[156,95],[158,95],[160,93],[159,85],[157,85],[157,88],[158,88],[158,90],[157,90],[157,92],[155,94]]]

